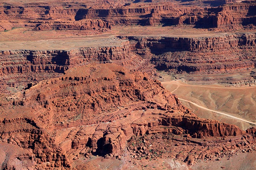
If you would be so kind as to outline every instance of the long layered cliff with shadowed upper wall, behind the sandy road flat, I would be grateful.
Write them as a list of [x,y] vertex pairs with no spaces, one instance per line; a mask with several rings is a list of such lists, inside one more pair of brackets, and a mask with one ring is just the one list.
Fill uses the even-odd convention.
[[202,38],[128,38],[137,41],[137,51],[151,51],[152,62],[159,70],[206,73],[255,67],[255,34]]

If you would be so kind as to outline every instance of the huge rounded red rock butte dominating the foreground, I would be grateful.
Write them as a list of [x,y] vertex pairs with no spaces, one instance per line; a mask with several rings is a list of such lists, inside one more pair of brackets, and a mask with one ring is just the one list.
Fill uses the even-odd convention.
[[[243,131],[198,118],[159,81],[116,64],[71,68],[61,77],[41,81],[16,95],[2,100],[0,139],[31,149],[29,159],[37,168],[71,167],[76,153],[119,155],[132,136],[146,134],[186,135],[201,142],[208,137],[228,137],[236,141],[231,147],[237,145],[238,150],[255,145],[253,128]],[[16,105],[21,101],[22,105]],[[226,142],[218,145],[224,147]],[[196,159],[204,159],[207,153]],[[189,159],[191,164],[195,160]]]

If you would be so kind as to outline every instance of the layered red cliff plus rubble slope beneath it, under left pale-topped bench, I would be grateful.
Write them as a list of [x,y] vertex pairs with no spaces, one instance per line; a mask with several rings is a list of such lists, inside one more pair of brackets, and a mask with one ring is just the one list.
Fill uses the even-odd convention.
[[57,77],[69,68],[87,65],[89,62],[127,65],[136,60],[134,55],[130,54],[129,41],[116,44],[118,45],[71,50],[0,51],[0,75],[3,77],[1,83],[26,87],[31,82]]

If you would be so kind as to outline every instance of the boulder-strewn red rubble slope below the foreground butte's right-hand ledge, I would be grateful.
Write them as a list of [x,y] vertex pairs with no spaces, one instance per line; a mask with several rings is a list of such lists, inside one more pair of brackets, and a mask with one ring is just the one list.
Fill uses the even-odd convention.
[[[164,132],[157,133],[157,130],[165,129]],[[156,128],[153,134],[143,137],[132,137],[128,142],[129,156],[132,162],[136,160],[147,159],[174,159],[193,165],[204,159],[206,164],[211,160],[221,160],[225,155],[238,155],[241,152],[252,152],[250,144],[255,138],[248,135],[239,135],[237,137],[225,136],[221,138],[209,137],[204,140],[194,138],[195,135],[178,135],[180,129]],[[225,143],[225,145],[222,145]],[[149,145],[150,144],[150,145]]]

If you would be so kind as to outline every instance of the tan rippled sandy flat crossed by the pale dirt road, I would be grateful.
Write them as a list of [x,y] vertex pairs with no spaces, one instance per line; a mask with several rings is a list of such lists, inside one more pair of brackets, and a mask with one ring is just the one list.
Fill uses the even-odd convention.
[[190,101],[190,103],[184,100],[181,102],[199,117],[235,124],[244,130],[252,124],[205,110],[205,108],[249,122],[256,121],[256,86],[236,88],[221,85],[189,85],[181,80],[162,82],[162,84],[179,98]]

